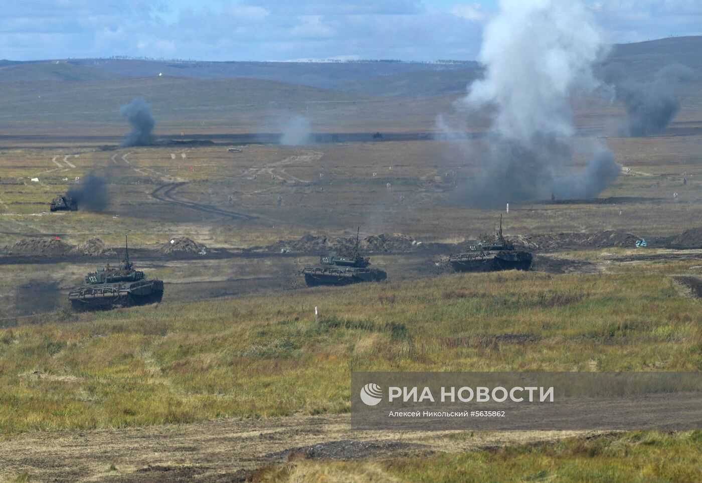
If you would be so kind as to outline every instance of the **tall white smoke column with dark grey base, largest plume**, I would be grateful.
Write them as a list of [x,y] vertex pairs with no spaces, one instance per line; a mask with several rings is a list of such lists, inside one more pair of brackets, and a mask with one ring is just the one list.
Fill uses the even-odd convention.
[[[490,107],[493,133],[476,157],[482,173],[461,190],[474,206],[557,197],[595,197],[620,171],[614,155],[594,140],[573,147],[570,95],[595,89],[592,65],[602,58],[600,33],[580,1],[502,0],[484,32],[484,79],[457,107],[472,114]],[[463,142],[476,154],[475,142]],[[585,157],[574,166],[574,154]]]

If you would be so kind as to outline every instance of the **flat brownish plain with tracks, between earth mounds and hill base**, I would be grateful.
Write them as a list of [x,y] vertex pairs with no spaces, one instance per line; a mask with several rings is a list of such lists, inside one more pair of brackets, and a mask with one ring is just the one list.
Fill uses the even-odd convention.
[[[614,229],[650,237],[702,225],[699,136],[607,142],[622,166],[633,171],[601,194],[618,199],[512,205],[505,232]],[[26,148],[1,151],[0,162],[3,245],[27,234],[60,234],[76,244],[97,236],[119,245],[121,234],[128,232],[134,246],[163,244],[178,235],[208,246],[254,246],[309,232],[350,234],[359,225],[366,234],[402,232],[424,241],[458,241],[491,232],[498,218],[498,211],[453,202],[454,180],[472,176],[479,159],[432,140],[249,145],[236,153],[224,146]],[[44,214],[55,194],[91,171],[108,183],[105,211]],[[174,192],[178,199],[257,218],[226,220],[152,197],[159,185],[176,181],[189,182]]]

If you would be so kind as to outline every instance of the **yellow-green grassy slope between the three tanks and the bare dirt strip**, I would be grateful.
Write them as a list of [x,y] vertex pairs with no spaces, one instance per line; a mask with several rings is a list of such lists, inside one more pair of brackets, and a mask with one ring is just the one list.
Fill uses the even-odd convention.
[[1,330],[0,431],[343,413],[356,370],[697,371],[702,305],[666,276],[693,263],[40,318]]

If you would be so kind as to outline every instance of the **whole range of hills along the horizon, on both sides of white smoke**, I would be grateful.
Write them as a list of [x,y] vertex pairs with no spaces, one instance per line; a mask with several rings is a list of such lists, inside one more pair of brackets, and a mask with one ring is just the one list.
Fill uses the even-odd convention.
[[[694,78],[677,88],[676,121],[700,119],[702,37],[616,45],[609,62],[642,78],[671,63],[691,67]],[[308,117],[317,132],[426,133],[438,114],[460,116],[453,100],[481,75],[476,62],[3,60],[0,135],[119,135],[126,131],[119,107],[137,96],[152,104],[157,132],[168,135],[277,132],[294,114]],[[601,96],[578,105],[587,117],[578,122],[595,131],[605,117],[621,114]]]

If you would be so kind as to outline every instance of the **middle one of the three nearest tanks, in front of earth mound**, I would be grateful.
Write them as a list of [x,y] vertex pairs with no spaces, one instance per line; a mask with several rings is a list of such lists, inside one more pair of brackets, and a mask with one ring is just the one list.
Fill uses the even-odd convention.
[[321,267],[305,267],[302,274],[305,275],[305,283],[308,286],[314,285],[347,285],[359,282],[380,282],[385,280],[388,274],[377,268],[367,268],[371,265],[369,257],[362,257],[358,252],[359,230],[356,232],[356,246],[350,256],[329,253],[319,257],[322,262]]

